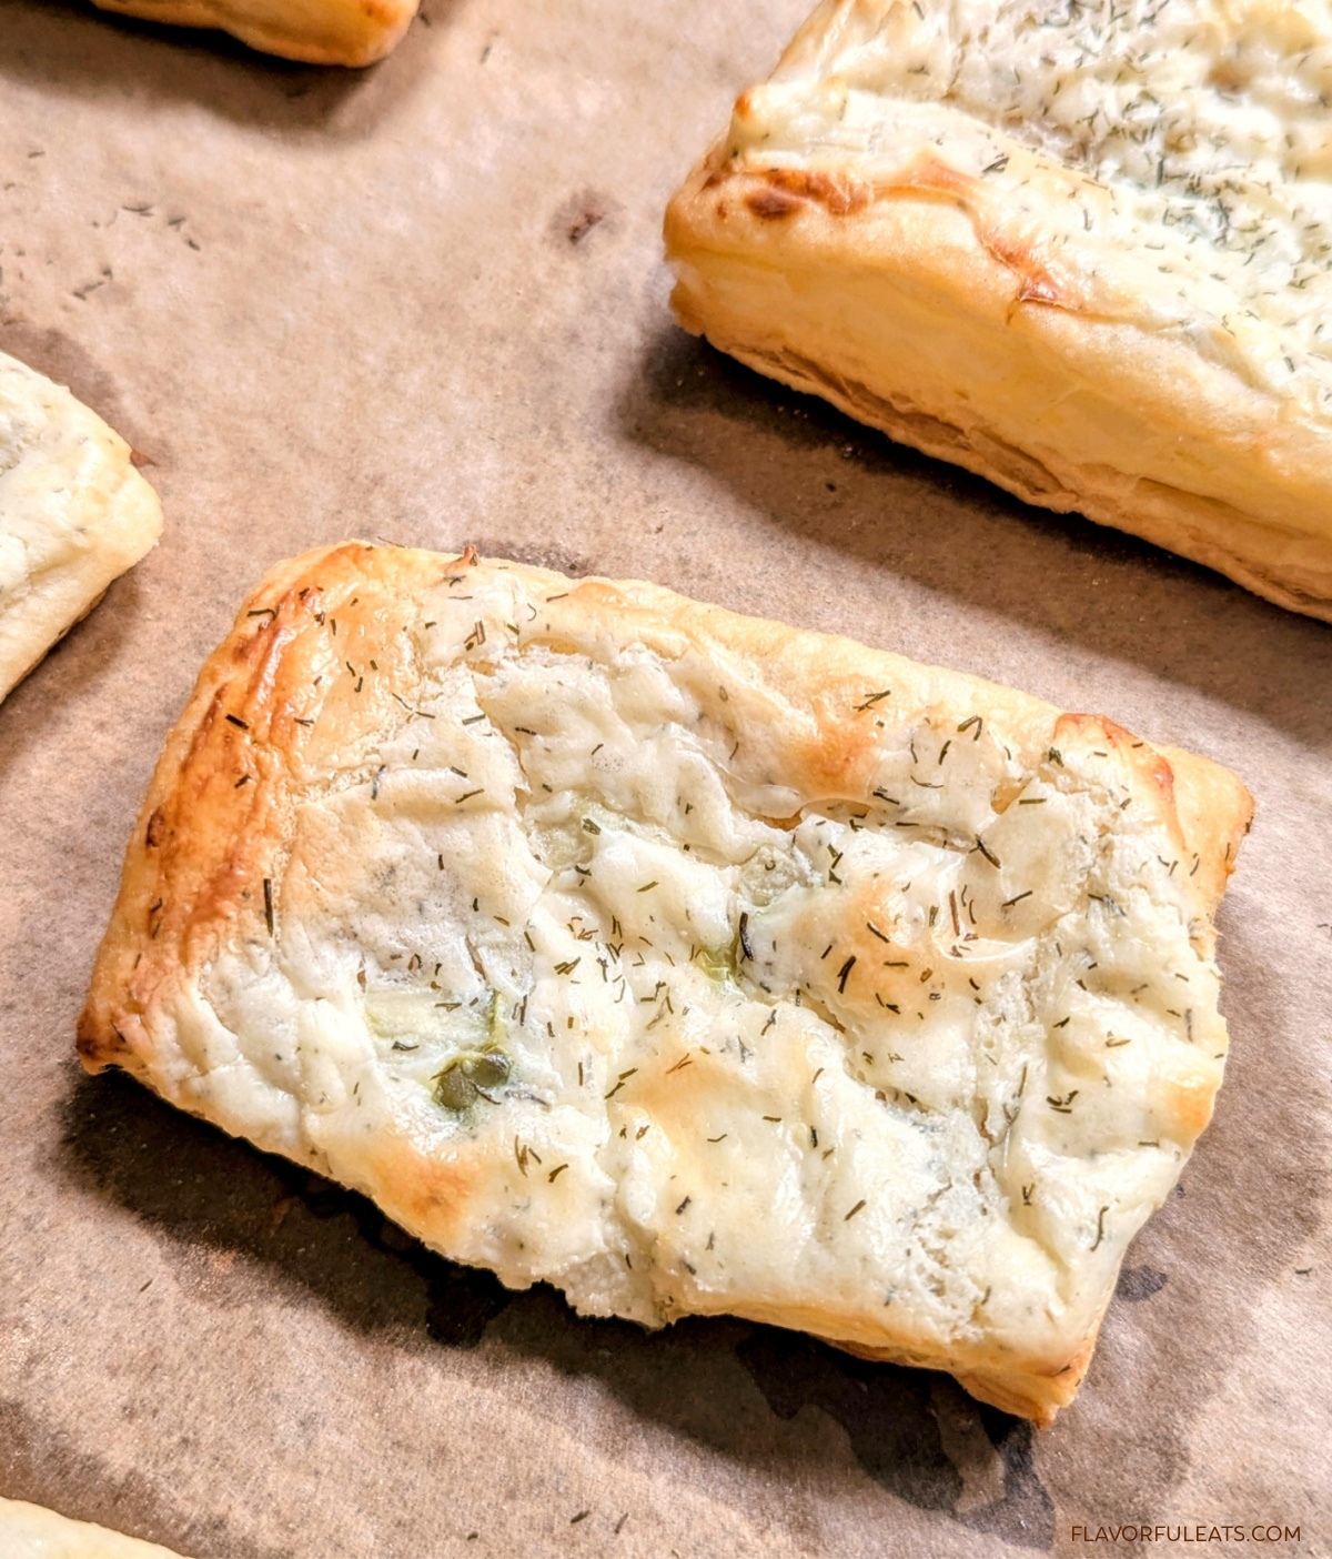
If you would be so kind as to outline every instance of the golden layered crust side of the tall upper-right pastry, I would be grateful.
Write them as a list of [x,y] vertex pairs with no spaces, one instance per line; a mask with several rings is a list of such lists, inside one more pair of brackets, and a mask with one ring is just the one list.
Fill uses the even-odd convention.
[[929,148],[879,178],[852,154],[790,161],[718,140],[670,203],[685,329],[1025,502],[1332,620],[1321,413],[1119,321],[1106,276]]

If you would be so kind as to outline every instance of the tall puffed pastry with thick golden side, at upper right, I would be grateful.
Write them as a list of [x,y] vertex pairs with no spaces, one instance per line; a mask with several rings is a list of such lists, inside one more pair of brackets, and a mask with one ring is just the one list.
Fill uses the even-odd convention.
[[1332,620],[1332,12],[826,0],[667,214],[679,321]]

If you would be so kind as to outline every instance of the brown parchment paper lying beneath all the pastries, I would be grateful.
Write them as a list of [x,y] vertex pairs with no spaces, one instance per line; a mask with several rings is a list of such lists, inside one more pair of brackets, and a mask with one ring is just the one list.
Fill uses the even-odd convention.
[[[664,204],[804,5],[425,0],[346,73],[0,0],[0,349],[167,511],[0,706],[0,1492],[203,1559],[1332,1553],[1332,630],[670,323]],[[1245,776],[1226,1087],[1055,1430],[743,1322],[580,1320],[81,1074],[162,737],[262,569],[344,536],[642,575]]]

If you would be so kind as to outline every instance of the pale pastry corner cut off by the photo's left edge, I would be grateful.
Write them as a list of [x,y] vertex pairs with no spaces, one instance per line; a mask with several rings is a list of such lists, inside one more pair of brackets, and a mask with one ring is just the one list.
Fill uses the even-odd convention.
[[0,698],[160,532],[125,440],[0,352]]

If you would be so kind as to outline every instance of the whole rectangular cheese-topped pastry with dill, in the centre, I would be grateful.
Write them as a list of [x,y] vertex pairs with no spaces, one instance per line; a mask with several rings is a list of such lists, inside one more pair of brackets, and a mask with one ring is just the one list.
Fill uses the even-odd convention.
[[79,1052],[514,1288],[1047,1423],[1210,1115],[1249,811],[847,639],[349,544],[204,666]]

